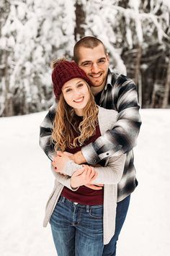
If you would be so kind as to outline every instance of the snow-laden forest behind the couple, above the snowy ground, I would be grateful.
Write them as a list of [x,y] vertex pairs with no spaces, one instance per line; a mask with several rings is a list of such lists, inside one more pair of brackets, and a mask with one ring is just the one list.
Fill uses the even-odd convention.
[[84,35],[101,39],[110,66],[138,86],[142,108],[170,106],[168,0],[1,0],[0,116],[53,104],[50,62],[73,57]]

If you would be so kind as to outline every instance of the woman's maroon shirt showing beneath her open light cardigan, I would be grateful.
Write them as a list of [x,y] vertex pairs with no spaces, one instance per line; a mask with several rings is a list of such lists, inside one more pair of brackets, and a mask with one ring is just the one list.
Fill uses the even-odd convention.
[[[79,123],[82,121],[81,116],[77,116]],[[78,136],[78,132],[74,132],[74,137]],[[99,130],[99,124],[96,127],[96,134],[86,140],[84,145],[88,145],[91,142],[94,142],[99,136],[101,136]],[[66,151],[69,153],[76,153],[81,150],[81,146],[76,148],[66,148]],[[81,205],[102,205],[103,204],[103,197],[104,197],[104,190],[94,190],[89,189],[89,187],[81,186],[76,191],[72,191],[67,187],[63,187],[63,191],[61,192],[62,197],[66,197],[68,200],[72,202],[79,202]]]

